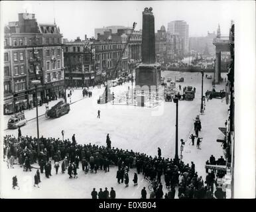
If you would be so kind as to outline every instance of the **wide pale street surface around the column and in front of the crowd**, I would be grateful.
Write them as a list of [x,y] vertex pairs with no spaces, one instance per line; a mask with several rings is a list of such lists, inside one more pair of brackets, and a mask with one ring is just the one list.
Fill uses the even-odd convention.
[[[211,74],[213,73],[206,73]],[[201,103],[201,80],[200,73],[190,72],[162,72],[165,79],[184,77],[184,82],[176,83],[176,87],[180,84],[183,87],[191,85],[196,87],[196,96],[193,101],[179,101],[178,103],[178,140],[184,139],[184,151],[182,152],[182,160],[190,164],[191,161],[196,164],[196,172],[198,176],[206,177],[204,164],[209,160],[211,154],[216,158],[223,155],[221,143],[216,142],[222,132],[218,127],[225,127],[224,123],[227,119],[227,105],[225,99],[212,99],[206,101],[206,110],[200,115],[202,122],[202,130],[199,136],[203,138],[201,149],[190,145],[190,134],[194,133],[194,119],[200,114]],[[222,76],[225,78],[226,74]],[[115,95],[121,93],[131,87],[131,83],[123,83],[117,87],[111,87]],[[224,89],[225,83],[216,85],[216,91]],[[212,80],[204,77],[204,93],[212,88]],[[64,139],[72,140],[72,135],[76,134],[78,144],[96,144],[105,146],[106,135],[109,133],[111,138],[111,146],[116,148],[133,150],[134,152],[143,152],[151,156],[157,156],[157,148],[162,149],[162,157],[174,158],[175,154],[175,121],[176,121],[176,104],[172,102],[162,101],[157,107],[136,107],[132,105],[105,105],[97,104],[97,98],[103,93],[104,87],[90,87],[92,97],[82,96],[82,88],[74,89],[70,105],[70,113],[63,115],[57,119],[48,119],[43,114],[45,112],[45,104],[39,107],[39,133],[40,136],[54,137],[62,139],[61,131],[64,130]],[[60,100],[60,99],[59,99]],[[58,101],[59,101],[58,100]],[[79,101],[78,101],[79,100]],[[55,101],[55,102],[58,102]],[[68,101],[70,99],[68,98]],[[54,105],[49,103],[50,106]],[[101,111],[101,118],[97,119],[97,110]],[[27,125],[21,128],[23,136],[36,136],[36,110],[25,111],[25,117],[32,119]],[[29,118],[28,118],[29,117]],[[5,116],[6,124],[9,116]],[[7,125],[5,125],[7,128]],[[13,134],[17,136],[18,130],[5,129],[4,134]],[[180,147],[178,148],[180,155]],[[36,166],[33,164],[32,166]],[[52,177],[46,179],[41,174],[40,188],[32,187],[35,169],[32,172],[23,172],[23,168],[15,165],[14,169],[7,170],[4,168],[5,184],[3,185],[3,193],[5,197],[13,198],[90,198],[93,187],[99,190],[108,187],[114,187],[117,198],[139,198],[141,197],[141,189],[143,186],[147,188],[149,185],[143,180],[142,174],[139,174],[137,186],[133,186],[133,170],[129,172],[130,185],[125,188],[124,184],[117,184],[115,178],[117,168],[111,166],[110,172],[99,170],[97,174],[84,174],[82,169],[78,170],[78,179],[70,180],[68,174],[56,175],[54,168],[52,169]],[[19,191],[11,188],[12,177],[17,175],[18,183],[23,184]],[[163,176],[162,176],[163,178]],[[164,180],[163,180],[164,184]],[[43,191],[43,192],[42,192]],[[68,191],[68,192],[66,192]],[[164,193],[167,190],[164,186]],[[149,193],[149,189],[147,189]],[[176,192],[177,195],[177,192]]]

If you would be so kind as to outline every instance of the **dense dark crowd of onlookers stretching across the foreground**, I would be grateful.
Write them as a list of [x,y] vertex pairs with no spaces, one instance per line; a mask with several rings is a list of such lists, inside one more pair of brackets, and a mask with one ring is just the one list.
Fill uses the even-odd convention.
[[[137,175],[139,174],[149,180],[153,185],[150,198],[174,198],[175,187],[177,186],[178,197],[181,199],[214,198],[212,182],[208,182],[208,179],[206,179],[206,186],[204,186],[204,180],[202,176],[198,176],[194,162],[189,165],[184,164],[179,159],[162,158],[160,148],[158,149],[158,156],[155,157],[133,152],[133,150],[111,148],[109,134],[107,134],[106,147],[91,143],[77,144],[75,134],[72,136],[72,141],[69,139],[60,140],[60,138],[44,138],[42,136],[39,146],[36,138],[32,138],[32,136],[19,136],[19,139],[17,139],[14,136],[7,135],[3,141],[7,161],[16,158],[17,163],[23,166],[24,171],[31,171],[31,165],[37,162],[40,166],[40,173],[45,173],[46,178],[52,176],[51,160],[54,161],[56,174],[58,174],[58,168],[61,166],[62,174],[68,170],[69,178],[78,178],[77,169],[79,169],[80,163],[83,172],[86,174],[89,171],[97,173],[98,170],[109,172],[109,167],[114,165],[118,168],[117,182],[124,182],[125,187],[129,186],[129,171],[131,168],[135,168],[137,171],[133,177],[134,185],[137,185]],[[39,154],[37,154],[38,148],[40,148]],[[40,173],[39,171],[36,173],[34,185],[38,185],[40,182]],[[168,193],[165,193],[165,195],[162,189],[162,176],[168,189]],[[218,186],[216,185],[216,187]],[[97,195],[96,192],[94,192],[94,196],[92,194],[93,197],[105,197],[105,195],[101,195],[101,190]],[[144,198],[147,196],[147,191],[141,191],[141,194]]]

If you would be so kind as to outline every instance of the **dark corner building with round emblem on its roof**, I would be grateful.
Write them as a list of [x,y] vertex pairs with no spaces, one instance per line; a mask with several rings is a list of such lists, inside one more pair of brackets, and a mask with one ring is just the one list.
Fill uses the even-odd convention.
[[95,55],[93,42],[80,40],[64,43],[64,67],[66,85],[84,87],[92,85],[95,79]]

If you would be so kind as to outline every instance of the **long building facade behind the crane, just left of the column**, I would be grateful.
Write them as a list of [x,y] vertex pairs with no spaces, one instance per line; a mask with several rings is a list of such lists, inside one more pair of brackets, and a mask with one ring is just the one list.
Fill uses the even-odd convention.
[[96,52],[97,80],[127,76],[141,61],[142,31],[132,28],[112,29],[97,34],[93,46]]

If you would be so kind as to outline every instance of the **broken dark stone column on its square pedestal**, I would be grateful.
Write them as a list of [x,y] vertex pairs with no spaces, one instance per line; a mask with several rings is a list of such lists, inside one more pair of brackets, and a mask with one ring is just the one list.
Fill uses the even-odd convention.
[[155,17],[152,10],[146,7],[143,11],[142,63],[136,69],[135,78],[136,90],[141,87],[141,91],[145,91],[145,87],[148,87],[149,93],[151,85],[155,85],[158,92],[161,78],[160,64],[155,60]]

